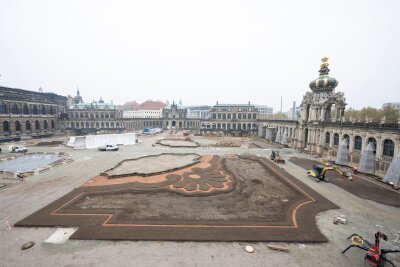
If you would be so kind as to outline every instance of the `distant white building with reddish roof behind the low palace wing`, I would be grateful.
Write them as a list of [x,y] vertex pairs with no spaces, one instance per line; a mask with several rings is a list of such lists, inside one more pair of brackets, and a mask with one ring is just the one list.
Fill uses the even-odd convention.
[[146,101],[138,104],[136,101],[127,102],[121,106],[124,119],[161,119],[165,104],[161,101]]

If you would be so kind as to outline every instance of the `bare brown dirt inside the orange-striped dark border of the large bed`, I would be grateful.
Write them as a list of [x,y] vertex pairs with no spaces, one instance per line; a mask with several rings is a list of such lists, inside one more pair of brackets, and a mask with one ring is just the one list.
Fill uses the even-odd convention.
[[79,209],[120,209],[125,221],[268,221],[284,222],[292,202],[301,198],[263,168],[246,159],[226,159],[227,170],[237,173],[236,190],[207,197],[182,197],[171,192],[91,195]]

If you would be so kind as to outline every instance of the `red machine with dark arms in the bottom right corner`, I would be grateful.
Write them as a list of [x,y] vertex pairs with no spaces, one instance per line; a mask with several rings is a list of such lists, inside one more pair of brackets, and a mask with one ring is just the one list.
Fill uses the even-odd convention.
[[364,239],[359,234],[352,234],[347,239],[351,238],[351,245],[345,248],[342,251],[342,254],[346,253],[352,247],[356,247],[362,250],[367,251],[364,256],[365,262],[369,266],[383,267],[386,263],[391,264],[393,267],[396,267],[394,263],[386,257],[388,253],[400,253],[400,249],[383,249],[380,248],[381,239],[387,241],[387,235],[378,231],[375,233],[375,243],[372,244],[368,240]]

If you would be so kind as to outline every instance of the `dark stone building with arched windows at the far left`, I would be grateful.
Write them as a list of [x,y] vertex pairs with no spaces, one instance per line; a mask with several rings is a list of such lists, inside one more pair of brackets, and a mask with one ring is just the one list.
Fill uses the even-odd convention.
[[42,137],[60,131],[67,98],[53,93],[0,87],[0,138]]

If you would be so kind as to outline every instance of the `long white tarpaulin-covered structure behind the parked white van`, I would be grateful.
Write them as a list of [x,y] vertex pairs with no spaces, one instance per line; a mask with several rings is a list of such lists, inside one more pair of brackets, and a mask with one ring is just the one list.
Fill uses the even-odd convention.
[[67,145],[74,149],[90,149],[105,145],[134,145],[136,139],[136,133],[73,136],[70,137]]

